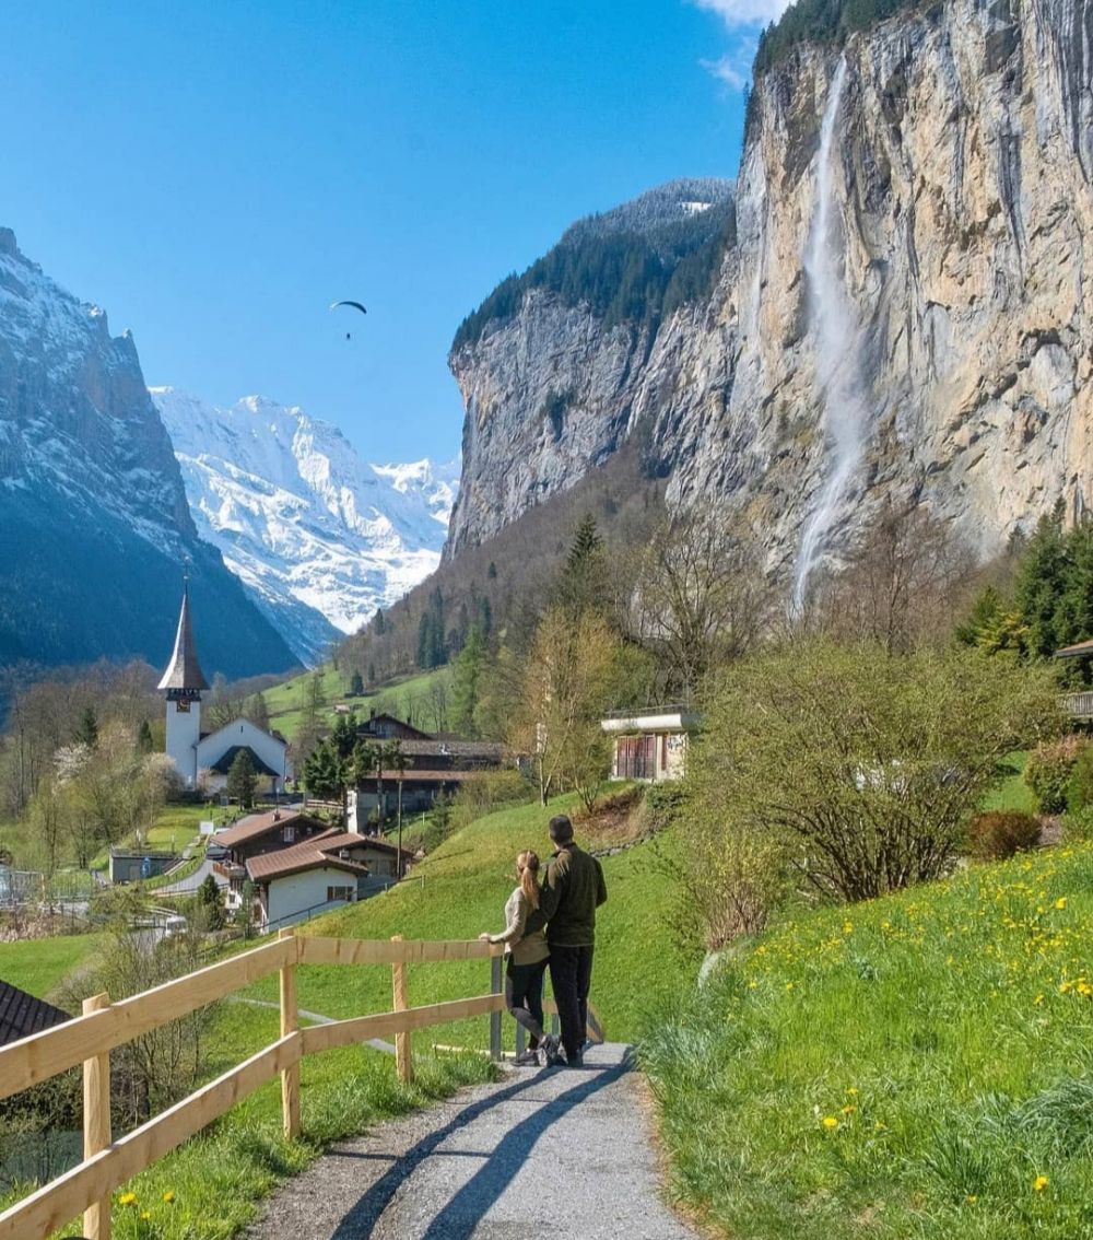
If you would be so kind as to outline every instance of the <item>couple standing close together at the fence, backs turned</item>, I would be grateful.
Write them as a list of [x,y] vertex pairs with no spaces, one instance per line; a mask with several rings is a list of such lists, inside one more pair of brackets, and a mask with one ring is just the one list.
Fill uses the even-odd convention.
[[[607,899],[604,869],[573,838],[573,823],[561,813],[550,820],[554,853],[542,884],[534,852],[517,857],[519,885],[504,905],[506,928],[480,939],[506,945],[504,1002],[528,1030],[529,1049],[519,1064],[581,1066],[596,941],[596,909]],[[561,1023],[561,1043],[543,1029],[543,975],[550,986]],[[563,1059],[561,1052],[565,1058]]]

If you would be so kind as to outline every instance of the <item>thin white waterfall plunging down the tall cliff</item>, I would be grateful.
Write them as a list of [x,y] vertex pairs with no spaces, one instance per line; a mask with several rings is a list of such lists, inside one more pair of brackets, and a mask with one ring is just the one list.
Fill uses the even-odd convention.
[[859,339],[858,322],[843,284],[841,229],[832,185],[832,144],[845,82],[846,61],[840,58],[820,124],[815,206],[804,252],[808,314],[814,334],[817,378],[823,397],[820,424],[827,460],[823,486],[801,537],[793,582],[793,615],[799,615],[804,606],[808,579],[819,563],[824,538],[861,459],[867,420],[854,353]]

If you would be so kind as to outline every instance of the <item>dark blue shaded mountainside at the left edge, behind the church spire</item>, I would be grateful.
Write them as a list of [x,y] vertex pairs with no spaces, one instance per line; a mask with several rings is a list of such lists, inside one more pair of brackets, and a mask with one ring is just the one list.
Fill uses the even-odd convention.
[[136,347],[0,228],[0,665],[165,663],[183,562],[209,672],[296,660],[197,537]]

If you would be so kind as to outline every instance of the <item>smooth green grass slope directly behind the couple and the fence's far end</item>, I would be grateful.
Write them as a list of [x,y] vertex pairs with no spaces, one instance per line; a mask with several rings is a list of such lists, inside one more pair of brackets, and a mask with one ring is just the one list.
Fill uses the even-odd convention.
[[[357,939],[473,939],[482,930],[504,924],[504,901],[516,882],[513,863],[524,848],[549,856],[546,822],[570,799],[549,808],[518,806],[480,818],[456,832],[435,853],[414,867],[404,883],[307,924],[304,934]],[[597,913],[592,1003],[612,1040],[641,1034],[644,1016],[667,997],[678,996],[694,978],[698,961],[687,956],[665,928],[675,892],[649,844],[604,859],[607,904]],[[488,990],[486,961],[415,965],[409,971],[410,1002],[442,1002],[481,994]],[[299,975],[300,1006],[325,1016],[347,1017],[387,1011],[390,970],[361,967],[305,967]],[[250,993],[271,999],[276,983],[269,980]],[[513,1023],[503,1025],[512,1045]],[[415,1034],[415,1047],[435,1042],[488,1045],[486,1018],[461,1022]]]

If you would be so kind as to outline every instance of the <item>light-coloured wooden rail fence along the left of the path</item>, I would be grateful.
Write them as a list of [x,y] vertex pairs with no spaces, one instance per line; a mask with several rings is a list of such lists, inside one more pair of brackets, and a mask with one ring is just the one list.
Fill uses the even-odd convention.
[[[0,1048],[0,1099],[83,1064],[84,1138],[79,1166],[0,1214],[0,1240],[46,1238],[81,1213],[88,1240],[109,1240],[114,1189],[278,1075],[281,1078],[285,1136],[299,1136],[300,1060],[304,1055],[368,1038],[394,1037],[398,1074],[409,1081],[414,1071],[411,1030],[486,1014],[496,1014],[491,1047],[499,1052],[499,1013],[504,1008],[504,997],[499,993],[499,957],[503,951],[499,944],[477,940],[428,942],[395,936],[384,942],[296,937],[291,930],[283,930],[280,937],[261,947],[118,1003],[110,1003],[107,994],[95,994],[84,1003],[83,1016]],[[409,1007],[409,965],[487,957],[493,957],[491,993]],[[299,965],[389,965],[393,1011],[301,1029],[296,1006]],[[280,1038],[114,1141],[110,1132],[110,1052],[275,972],[280,973]]]

